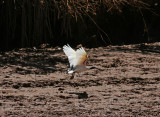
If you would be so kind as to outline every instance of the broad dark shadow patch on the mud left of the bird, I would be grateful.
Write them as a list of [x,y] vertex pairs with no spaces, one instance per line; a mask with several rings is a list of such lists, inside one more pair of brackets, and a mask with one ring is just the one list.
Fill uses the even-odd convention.
[[[57,70],[57,63],[65,63],[60,56],[61,50],[20,49],[0,53],[0,67],[13,67],[19,74],[46,74]],[[58,69],[61,71],[61,69]]]

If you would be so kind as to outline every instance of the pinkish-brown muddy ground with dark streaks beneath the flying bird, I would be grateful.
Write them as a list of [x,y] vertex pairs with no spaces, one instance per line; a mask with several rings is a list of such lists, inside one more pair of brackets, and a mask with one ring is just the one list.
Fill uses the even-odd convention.
[[1,52],[0,116],[160,116],[160,43],[86,51],[73,80],[62,48]]

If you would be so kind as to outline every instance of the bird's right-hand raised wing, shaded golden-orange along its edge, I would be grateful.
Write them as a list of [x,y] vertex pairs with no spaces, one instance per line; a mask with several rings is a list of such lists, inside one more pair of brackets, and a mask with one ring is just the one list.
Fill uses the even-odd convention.
[[83,47],[77,49],[76,51],[76,65],[86,65],[88,56]]

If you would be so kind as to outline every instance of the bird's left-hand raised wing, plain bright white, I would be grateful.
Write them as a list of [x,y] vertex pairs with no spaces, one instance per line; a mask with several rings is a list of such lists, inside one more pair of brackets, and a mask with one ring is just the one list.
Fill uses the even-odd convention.
[[70,67],[75,66],[76,52],[68,44],[63,46],[63,51],[68,57]]

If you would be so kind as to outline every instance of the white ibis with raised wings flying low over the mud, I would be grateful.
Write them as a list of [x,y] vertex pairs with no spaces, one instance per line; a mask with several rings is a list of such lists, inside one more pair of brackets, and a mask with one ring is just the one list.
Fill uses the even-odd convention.
[[86,67],[88,55],[83,47],[75,51],[67,44],[63,46],[63,51],[69,60],[70,68],[68,69],[68,73],[72,74],[71,79],[74,78],[74,73],[79,73],[94,68]]

